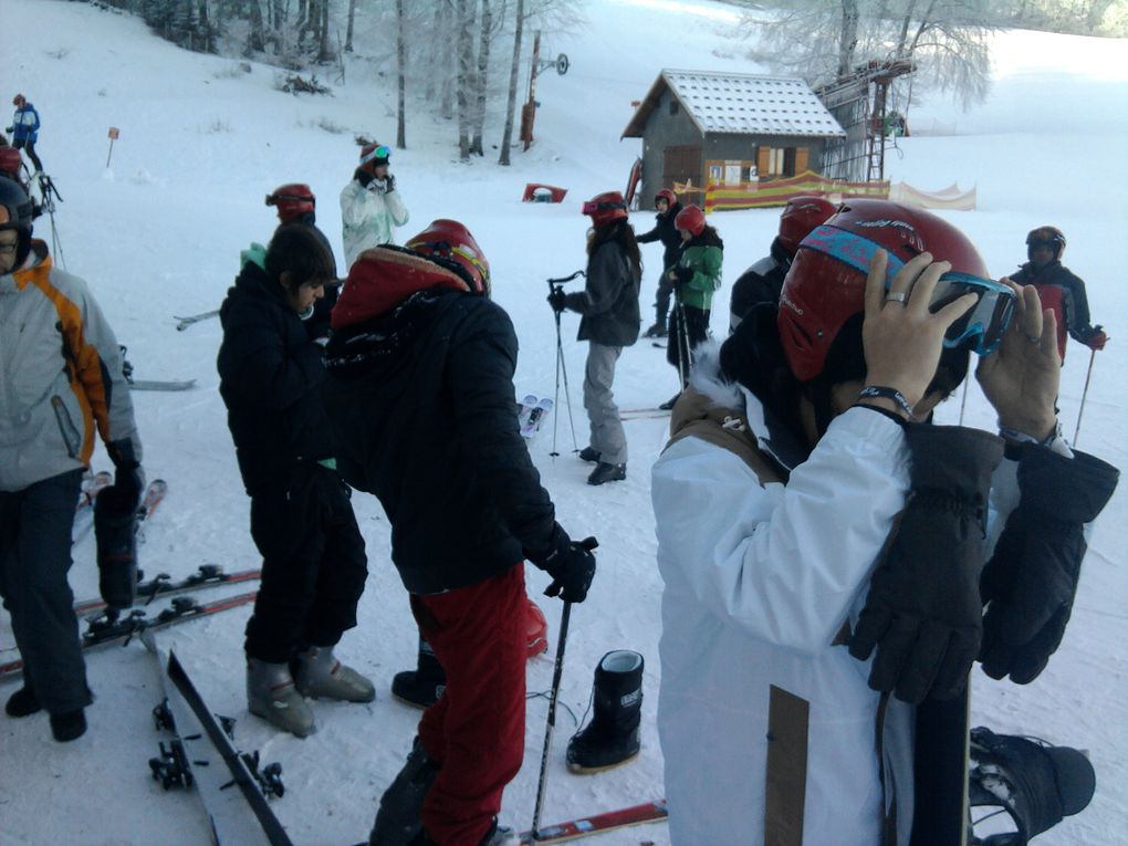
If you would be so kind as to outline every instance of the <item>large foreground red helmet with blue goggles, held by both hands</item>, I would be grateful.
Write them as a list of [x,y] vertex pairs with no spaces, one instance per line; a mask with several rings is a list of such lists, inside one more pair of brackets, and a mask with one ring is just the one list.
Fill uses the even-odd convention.
[[937,310],[973,292],[979,303],[945,334],[945,346],[995,349],[1010,325],[1014,294],[987,277],[975,245],[934,214],[885,200],[852,200],[800,244],[779,297],[779,340],[801,381],[826,367],[827,352],[846,321],[865,310],[865,281],[878,249],[889,254],[885,287],[914,256],[931,253],[952,270],[941,277],[931,308]]

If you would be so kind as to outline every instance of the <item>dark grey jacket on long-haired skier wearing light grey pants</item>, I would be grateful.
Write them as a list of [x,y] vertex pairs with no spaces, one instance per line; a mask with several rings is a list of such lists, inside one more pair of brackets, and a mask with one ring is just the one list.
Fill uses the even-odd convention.
[[641,273],[615,241],[600,245],[588,258],[588,284],[564,302],[583,315],[578,340],[606,346],[631,346],[638,340]]

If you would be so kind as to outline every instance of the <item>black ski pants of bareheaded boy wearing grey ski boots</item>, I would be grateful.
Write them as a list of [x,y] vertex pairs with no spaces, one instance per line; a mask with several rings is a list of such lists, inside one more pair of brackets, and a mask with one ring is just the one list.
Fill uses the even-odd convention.
[[356,625],[368,559],[349,501],[331,470],[302,461],[289,487],[250,497],[250,536],[263,555],[247,655],[284,663],[309,646],[334,646]]

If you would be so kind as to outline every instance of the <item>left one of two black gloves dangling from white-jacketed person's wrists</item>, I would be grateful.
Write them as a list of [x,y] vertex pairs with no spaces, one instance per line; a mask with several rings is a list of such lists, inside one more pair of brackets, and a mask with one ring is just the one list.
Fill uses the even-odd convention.
[[967,684],[982,637],[979,573],[990,475],[1003,441],[959,426],[909,425],[911,483],[849,640],[870,687],[918,704]]

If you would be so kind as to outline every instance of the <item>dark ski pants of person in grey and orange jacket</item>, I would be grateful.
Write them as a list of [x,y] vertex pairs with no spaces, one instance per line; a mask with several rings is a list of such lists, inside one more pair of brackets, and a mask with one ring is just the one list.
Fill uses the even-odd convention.
[[78,640],[71,527],[82,470],[0,491],[0,597],[24,659],[24,684],[50,714],[90,704]]

